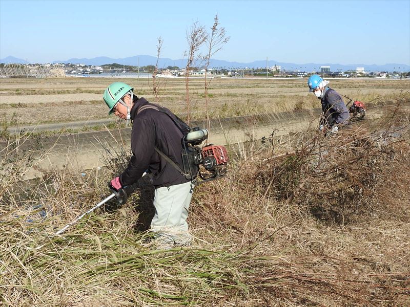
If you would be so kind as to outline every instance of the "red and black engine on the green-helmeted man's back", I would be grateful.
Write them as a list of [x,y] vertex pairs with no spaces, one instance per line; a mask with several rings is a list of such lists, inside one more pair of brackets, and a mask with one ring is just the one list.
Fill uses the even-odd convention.
[[[224,146],[198,146],[208,138],[207,129],[193,128],[182,138],[182,162],[184,172],[196,184],[219,179],[228,171],[228,151]],[[201,180],[198,180],[198,176]]]

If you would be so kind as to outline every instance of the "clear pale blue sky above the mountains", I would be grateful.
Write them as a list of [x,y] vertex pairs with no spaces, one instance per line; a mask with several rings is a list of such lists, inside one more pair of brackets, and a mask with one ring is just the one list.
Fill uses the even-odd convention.
[[156,55],[179,59],[196,20],[215,14],[239,62],[410,64],[410,1],[5,1],[0,58],[29,62]]

